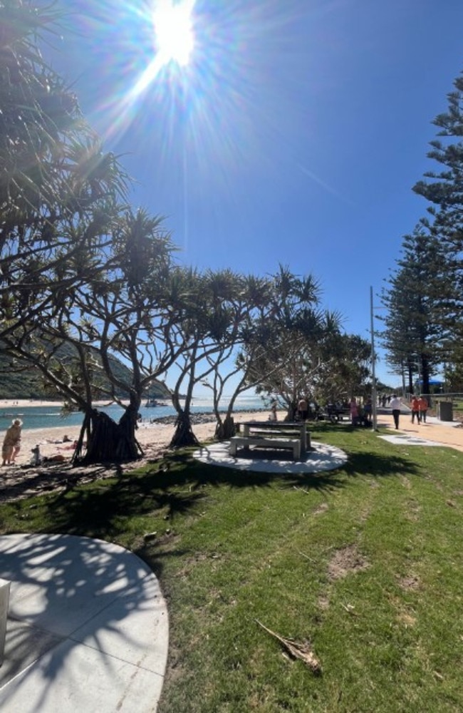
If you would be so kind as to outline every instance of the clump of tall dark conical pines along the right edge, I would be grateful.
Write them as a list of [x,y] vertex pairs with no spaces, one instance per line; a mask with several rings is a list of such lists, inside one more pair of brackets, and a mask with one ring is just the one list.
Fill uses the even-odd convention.
[[[383,294],[390,308],[386,322],[390,363],[407,373],[420,371],[425,392],[437,364],[459,371],[463,336],[463,77],[447,95],[447,111],[434,120],[437,138],[429,170],[414,186],[428,202],[428,217],[405,237],[404,258]],[[402,297],[397,292],[402,290]],[[414,366],[414,365],[418,366]]]

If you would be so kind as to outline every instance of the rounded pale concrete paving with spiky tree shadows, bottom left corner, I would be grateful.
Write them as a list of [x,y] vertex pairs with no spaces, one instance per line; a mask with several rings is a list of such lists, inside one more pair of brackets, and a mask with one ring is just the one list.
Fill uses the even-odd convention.
[[167,607],[140,558],[73,535],[1,535],[0,576],[11,580],[2,713],[157,709]]

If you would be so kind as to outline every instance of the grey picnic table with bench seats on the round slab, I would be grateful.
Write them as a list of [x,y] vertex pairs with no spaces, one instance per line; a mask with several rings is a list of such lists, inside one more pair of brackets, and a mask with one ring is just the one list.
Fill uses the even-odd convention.
[[240,426],[242,435],[230,438],[231,456],[236,456],[240,447],[245,451],[249,451],[249,446],[270,450],[290,448],[294,460],[298,460],[310,448],[311,437],[304,421],[241,421]]

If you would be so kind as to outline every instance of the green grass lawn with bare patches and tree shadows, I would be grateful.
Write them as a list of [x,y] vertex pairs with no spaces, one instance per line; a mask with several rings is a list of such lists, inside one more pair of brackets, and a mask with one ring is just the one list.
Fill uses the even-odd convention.
[[[242,473],[184,451],[1,506],[0,530],[90,535],[150,564],[170,612],[160,713],[463,711],[463,453],[312,425],[345,468]],[[310,642],[321,674],[256,620]]]

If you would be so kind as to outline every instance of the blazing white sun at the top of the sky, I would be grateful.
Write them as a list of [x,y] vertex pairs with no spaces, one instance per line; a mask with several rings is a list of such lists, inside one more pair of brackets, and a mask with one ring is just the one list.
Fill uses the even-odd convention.
[[187,66],[194,49],[192,10],[194,0],[157,0],[153,14],[157,61]]

